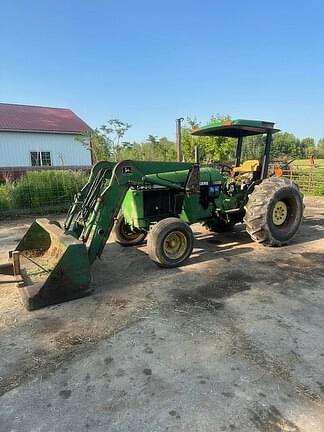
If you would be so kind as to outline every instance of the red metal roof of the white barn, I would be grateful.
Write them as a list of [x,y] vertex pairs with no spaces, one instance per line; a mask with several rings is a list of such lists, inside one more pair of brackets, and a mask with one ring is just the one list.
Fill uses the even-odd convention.
[[0,103],[0,131],[80,133],[90,127],[67,108]]

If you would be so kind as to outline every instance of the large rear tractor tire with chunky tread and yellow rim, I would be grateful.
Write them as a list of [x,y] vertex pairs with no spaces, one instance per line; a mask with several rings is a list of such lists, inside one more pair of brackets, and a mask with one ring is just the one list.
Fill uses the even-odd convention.
[[282,246],[298,231],[303,212],[298,186],[283,177],[270,177],[249,196],[244,222],[252,240],[265,246]]

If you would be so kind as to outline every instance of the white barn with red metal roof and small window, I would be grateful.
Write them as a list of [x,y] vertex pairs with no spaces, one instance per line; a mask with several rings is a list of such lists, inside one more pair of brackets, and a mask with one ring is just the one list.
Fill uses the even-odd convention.
[[88,168],[90,151],[76,137],[89,130],[66,108],[0,103],[0,170]]

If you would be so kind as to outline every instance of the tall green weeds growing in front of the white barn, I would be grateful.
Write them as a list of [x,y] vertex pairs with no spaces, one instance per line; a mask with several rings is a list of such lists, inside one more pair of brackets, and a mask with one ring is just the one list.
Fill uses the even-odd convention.
[[84,172],[28,171],[15,183],[0,185],[0,210],[69,205],[87,181]]

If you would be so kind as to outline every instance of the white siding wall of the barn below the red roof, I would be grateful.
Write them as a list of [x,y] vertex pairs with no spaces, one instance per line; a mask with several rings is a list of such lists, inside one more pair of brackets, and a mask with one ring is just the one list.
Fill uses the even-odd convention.
[[52,166],[91,165],[90,151],[75,135],[0,131],[0,167],[31,166],[31,151],[51,152]]

